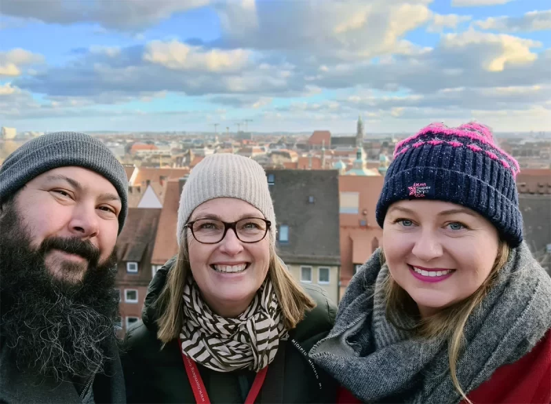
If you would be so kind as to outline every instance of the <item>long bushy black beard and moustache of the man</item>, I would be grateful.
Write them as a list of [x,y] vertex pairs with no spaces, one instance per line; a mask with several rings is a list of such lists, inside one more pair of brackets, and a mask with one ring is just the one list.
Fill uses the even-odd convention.
[[[39,248],[32,248],[15,204],[3,208],[0,330],[17,366],[56,381],[103,372],[116,341],[116,251],[98,263],[98,249],[90,241],[50,237]],[[76,263],[60,264],[61,276],[52,276],[44,259],[52,248],[87,260],[82,281],[70,280]]]

